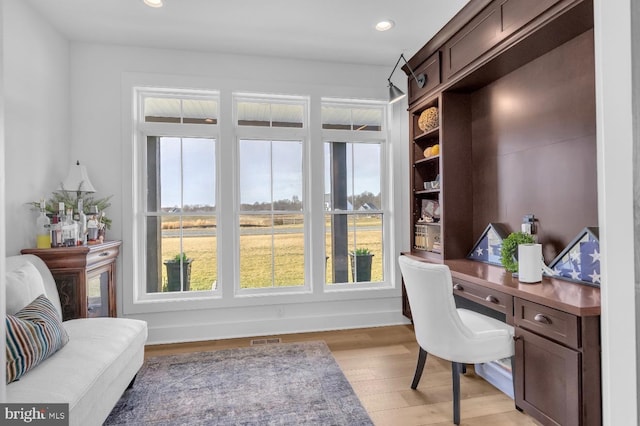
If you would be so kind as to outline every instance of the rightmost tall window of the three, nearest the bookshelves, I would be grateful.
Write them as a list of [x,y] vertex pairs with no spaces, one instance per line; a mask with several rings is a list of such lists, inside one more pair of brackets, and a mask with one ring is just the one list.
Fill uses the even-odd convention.
[[384,112],[381,105],[322,106],[328,284],[385,278]]

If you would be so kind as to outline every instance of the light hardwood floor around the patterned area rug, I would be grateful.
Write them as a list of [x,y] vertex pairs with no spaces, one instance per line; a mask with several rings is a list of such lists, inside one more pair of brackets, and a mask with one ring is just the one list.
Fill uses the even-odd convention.
[[[417,390],[410,388],[418,357],[411,326],[261,336],[283,343],[323,340],[377,426],[450,425],[451,367],[428,356]],[[246,347],[252,338],[147,346],[145,356]],[[513,400],[474,374],[461,376],[461,424],[539,425]]]

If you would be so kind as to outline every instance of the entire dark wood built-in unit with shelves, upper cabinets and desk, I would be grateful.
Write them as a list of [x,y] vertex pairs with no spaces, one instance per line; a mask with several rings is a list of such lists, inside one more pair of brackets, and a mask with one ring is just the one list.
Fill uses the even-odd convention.
[[[516,406],[543,424],[601,422],[599,289],[548,278],[527,287],[465,258],[489,223],[515,231],[524,214],[539,218],[547,261],[597,226],[593,50],[592,1],[471,0],[409,59],[423,88],[404,67],[405,254],[449,265],[456,296],[514,325]],[[433,107],[438,125],[425,132],[420,116]]]

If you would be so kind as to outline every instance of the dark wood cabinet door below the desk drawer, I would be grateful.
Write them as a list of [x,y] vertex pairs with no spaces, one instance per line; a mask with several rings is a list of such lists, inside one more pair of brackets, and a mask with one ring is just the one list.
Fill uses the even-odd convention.
[[580,425],[580,352],[516,328],[516,406],[551,425]]

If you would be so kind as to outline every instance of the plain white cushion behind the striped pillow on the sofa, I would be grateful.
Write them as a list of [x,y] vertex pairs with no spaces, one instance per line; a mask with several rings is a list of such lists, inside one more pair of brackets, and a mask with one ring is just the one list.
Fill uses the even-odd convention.
[[45,294],[42,275],[32,263],[7,272],[6,277],[6,313],[15,315],[20,309]]

